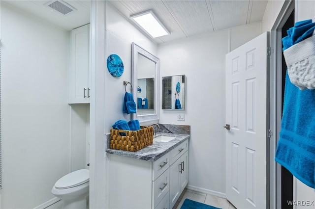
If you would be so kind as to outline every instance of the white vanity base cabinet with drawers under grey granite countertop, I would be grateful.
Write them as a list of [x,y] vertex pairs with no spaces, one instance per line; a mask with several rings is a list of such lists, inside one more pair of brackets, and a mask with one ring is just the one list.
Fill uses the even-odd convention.
[[109,161],[110,209],[172,209],[188,183],[188,140],[154,162],[114,154]]

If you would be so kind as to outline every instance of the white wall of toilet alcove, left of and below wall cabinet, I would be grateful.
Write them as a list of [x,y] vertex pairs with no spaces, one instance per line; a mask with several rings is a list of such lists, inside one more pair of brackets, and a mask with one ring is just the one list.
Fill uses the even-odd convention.
[[67,104],[68,31],[3,1],[0,26],[0,208],[44,207],[59,178],[85,167],[89,105]]

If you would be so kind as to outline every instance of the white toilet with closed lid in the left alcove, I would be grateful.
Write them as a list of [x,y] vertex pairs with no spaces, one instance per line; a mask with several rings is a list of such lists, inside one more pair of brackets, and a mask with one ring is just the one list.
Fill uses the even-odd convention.
[[63,209],[86,209],[90,171],[81,169],[60,178],[51,192],[63,200]]

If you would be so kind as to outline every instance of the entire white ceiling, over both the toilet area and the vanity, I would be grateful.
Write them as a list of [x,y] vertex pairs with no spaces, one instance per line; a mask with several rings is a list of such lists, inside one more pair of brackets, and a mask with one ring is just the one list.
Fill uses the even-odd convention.
[[[63,15],[46,4],[51,0],[1,0],[65,30],[90,23],[89,0],[60,0],[75,10]],[[108,0],[126,19],[152,9],[170,35],[157,44],[202,33],[261,22],[268,0]],[[131,20],[130,20],[131,21]],[[131,21],[132,22],[132,21]]]

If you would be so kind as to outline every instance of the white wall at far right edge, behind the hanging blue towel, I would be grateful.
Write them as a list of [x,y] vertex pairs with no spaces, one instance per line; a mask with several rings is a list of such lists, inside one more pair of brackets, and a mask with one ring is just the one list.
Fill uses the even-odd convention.
[[[295,1],[295,22],[315,18],[315,1],[296,0]],[[313,20],[314,22],[314,20]],[[314,209],[315,191],[298,179],[293,178],[293,199],[296,201],[314,201],[313,205],[295,206],[294,209]]]

